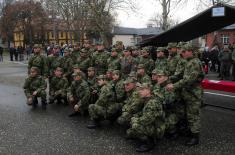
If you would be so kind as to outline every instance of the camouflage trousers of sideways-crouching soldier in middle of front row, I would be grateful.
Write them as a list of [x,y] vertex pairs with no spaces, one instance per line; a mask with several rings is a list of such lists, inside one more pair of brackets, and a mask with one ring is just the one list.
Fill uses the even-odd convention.
[[121,108],[121,103],[112,103],[107,107],[91,104],[89,105],[88,111],[92,120],[106,120],[119,115]]

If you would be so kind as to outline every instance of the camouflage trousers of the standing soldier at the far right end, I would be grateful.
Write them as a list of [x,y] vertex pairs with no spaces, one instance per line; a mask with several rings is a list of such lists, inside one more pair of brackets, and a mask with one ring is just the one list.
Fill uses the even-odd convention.
[[184,90],[183,94],[188,128],[192,133],[199,133],[201,128],[200,115],[203,90],[201,86],[197,86],[191,90]]

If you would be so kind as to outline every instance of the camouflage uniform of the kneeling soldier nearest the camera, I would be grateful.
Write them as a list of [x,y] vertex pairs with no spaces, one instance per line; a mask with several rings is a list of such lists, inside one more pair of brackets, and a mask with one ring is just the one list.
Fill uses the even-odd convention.
[[151,96],[145,97],[141,104],[144,107],[131,118],[131,128],[127,130],[127,135],[142,140],[148,137],[162,138],[165,131],[162,103]]

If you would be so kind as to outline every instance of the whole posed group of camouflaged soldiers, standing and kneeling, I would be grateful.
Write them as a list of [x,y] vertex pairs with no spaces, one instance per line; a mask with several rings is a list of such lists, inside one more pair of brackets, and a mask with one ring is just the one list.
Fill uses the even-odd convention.
[[184,134],[187,146],[199,143],[204,73],[190,44],[169,43],[151,53],[147,47],[123,49],[118,41],[108,52],[103,44],[94,49],[86,41],[82,48],[66,48],[63,57],[59,51],[54,46],[45,57],[34,46],[24,84],[28,105],[37,107],[38,97],[43,109],[47,103],[69,104],[70,117],[90,117],[88,129],[100,127],[103,120],[117,122],[126,129],[126,139],[139,142],[138,152],[153,149],[164,136]]

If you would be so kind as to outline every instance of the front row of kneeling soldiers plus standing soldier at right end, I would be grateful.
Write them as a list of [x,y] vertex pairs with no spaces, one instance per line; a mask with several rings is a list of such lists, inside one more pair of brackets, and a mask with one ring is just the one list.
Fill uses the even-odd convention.
[[[99,127],[103,120],[117,121],[127,129],[126,139],[140,142],[138,152],[153,149],[155,141],[164,135],[176,138],[182,131],[185,134],[189,131],[190,139],[186,144],[196,145],[199,143],[202,79],[200,68],[196,68],[200,67],[198,60],[188,58],[187,61],[192,62],[185,66],[183,79],[174,84],[164,69],[152,71],[152,82],[139,83],[133,74],[124,80],[119,70],[112,71],[111,79],[105,75],[96,77],[93,67],[88,69],[86,78],[75,65],[69,87],[63,69],[57,67],[55,76],[50,79],[49,103],[70,103],[74,108],[70,116],[89,113],[89,129]],[[36,107],[37,97],[41,97],[42,108],[46,109],[46,88],[39,69],[32,67],[24,84],[28,104]]]

